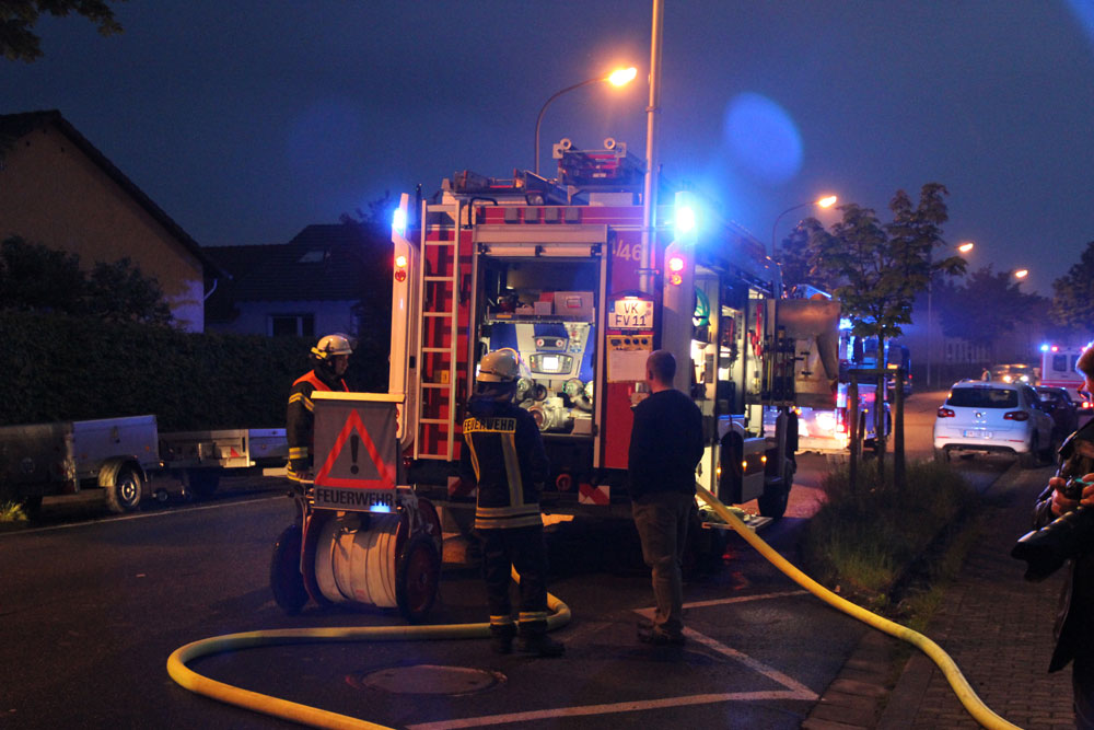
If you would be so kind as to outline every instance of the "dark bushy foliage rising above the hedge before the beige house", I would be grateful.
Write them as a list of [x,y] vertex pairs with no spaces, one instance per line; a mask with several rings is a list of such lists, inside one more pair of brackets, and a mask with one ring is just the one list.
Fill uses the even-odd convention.
[[156,325],[168,325],[173,318],[159,281],[128,257],[100,262],[85,274],[77,254],[19,236],[0,243],[0,311],[4,310]]

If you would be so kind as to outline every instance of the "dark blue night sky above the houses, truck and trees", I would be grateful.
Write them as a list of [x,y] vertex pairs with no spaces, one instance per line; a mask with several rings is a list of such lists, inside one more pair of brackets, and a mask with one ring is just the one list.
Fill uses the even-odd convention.
[[[0,60],[0,113],[57,108],[202,245],[286,242],[457,170],[533,166],[605,137],[642,157],[639,0],[130,0],[120,36],[37,25]],[[1094,0],[665,1],[661,162],[770,245],[834,193],[888,220],[950,189],[971,267],[1051,282],[1094,241]],[[782,218],[781,240],[808,209]],[[825,222],[831,213],[822,217]]]

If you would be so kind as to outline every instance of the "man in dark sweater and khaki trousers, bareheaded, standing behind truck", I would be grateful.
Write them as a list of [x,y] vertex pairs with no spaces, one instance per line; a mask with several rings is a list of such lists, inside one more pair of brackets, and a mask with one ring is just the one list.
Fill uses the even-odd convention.
[[650,566],[656,613],[639,639],[684,644],[684,546],[695,509],[695,467],[702,459],[702,414],[673,389],[676,359],[667,350],[650,354],[645,382],[650,395],[635,407],[627,468],[631,513]]

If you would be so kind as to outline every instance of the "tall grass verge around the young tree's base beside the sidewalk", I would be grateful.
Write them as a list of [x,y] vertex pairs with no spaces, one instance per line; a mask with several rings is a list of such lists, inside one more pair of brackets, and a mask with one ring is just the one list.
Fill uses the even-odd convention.
[[891,467],[885,476],[878,484],[875,461],[860,465],[857,486],[847,465],[825,475],[826,500],[806,528],[802,565],[846,599],[918,630],[975,540],[978,497],[964,476],[933,461],[909,463],[903,489]]

